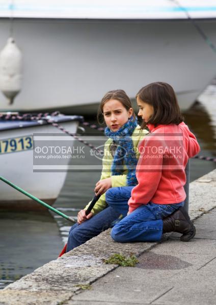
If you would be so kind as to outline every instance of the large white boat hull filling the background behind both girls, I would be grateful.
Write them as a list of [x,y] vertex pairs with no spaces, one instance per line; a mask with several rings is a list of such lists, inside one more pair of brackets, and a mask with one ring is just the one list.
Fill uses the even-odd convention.
[[[216,41],[216,19],[199,20]],[[0,20],[0,47],[9,21]],[[22,90],[0,110],[64,109],[95,113],[108,90],[130,98],[153,81],[170,83],[181,109],[192,105],[215,75],[215,54],[188,20],[14,20],[23,52]]]

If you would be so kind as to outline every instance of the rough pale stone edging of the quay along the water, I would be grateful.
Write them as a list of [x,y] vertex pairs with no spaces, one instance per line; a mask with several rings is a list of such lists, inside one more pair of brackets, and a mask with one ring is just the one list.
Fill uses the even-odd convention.
[[[216,170],[190,184],[189,213],[192,220],[216,206]],[[157,242],[117,243],[110,230],[87,241],[57,260],[53,260],[0,291],[0,305],[64,304],[82,292],[80,285],[90,285],[117,265],[106,265],[103,259],[112,254],[131,253],[139,257]]]

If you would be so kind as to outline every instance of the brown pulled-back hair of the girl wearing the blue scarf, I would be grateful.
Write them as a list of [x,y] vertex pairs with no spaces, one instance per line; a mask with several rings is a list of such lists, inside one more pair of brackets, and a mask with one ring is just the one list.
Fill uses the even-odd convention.
[[[98,108],[98,112],[97,112],[97,120],[98,123],[104,123],[104,120],[101,121],[101,118],[103,118],[103,106],[105,105],[106,102],[110,101],[110,100],[118,100],[123,106],[124,108],[128,111],[130,108],[132,108],[131,102],[129,97],[126,95],[124,90],[121,89],[117,89],[117,90],[111,90],[109,92],[107,92],[104,97],[102,98],[101,102],[100,102],[100,106]],[[133,118],[136,118],[135,113],[133,112],[132,114]]]

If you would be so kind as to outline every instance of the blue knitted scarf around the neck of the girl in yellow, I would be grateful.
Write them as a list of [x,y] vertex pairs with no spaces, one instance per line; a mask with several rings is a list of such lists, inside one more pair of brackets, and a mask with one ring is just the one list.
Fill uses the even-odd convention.
[[137,118],[134,119],[133,116],[131,116],[127,123],[125,123],[118,131],[113,132],[108,127],[105,129],[105,135],[113,139],[114,144],[117,145],[111,166],[112,175],[122,175],[123,164],[126,165],[128,170],[127,186],[136,186],[138,184],[136,178],[136,166],[138,160],[131,139],[131,135],[137,125]]

